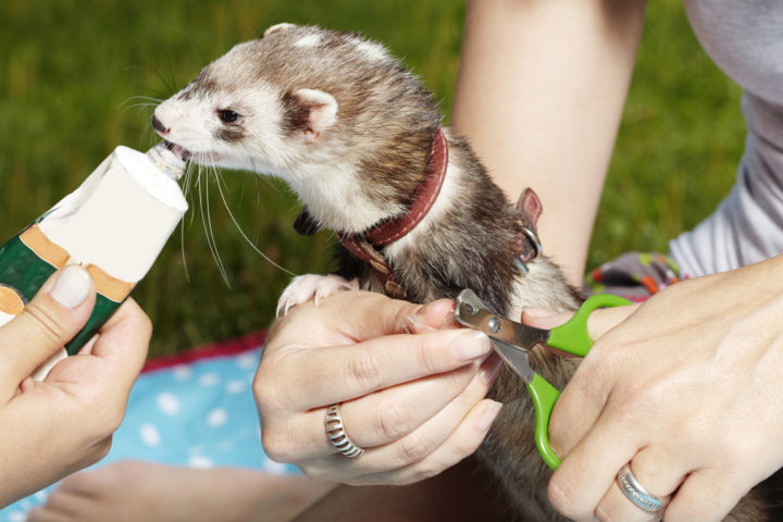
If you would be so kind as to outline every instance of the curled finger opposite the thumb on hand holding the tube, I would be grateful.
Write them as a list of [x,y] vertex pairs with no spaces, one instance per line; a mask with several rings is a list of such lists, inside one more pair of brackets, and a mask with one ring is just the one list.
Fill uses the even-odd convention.
[[107,364],[101,369],[115,389],[129,391],[147,358],[152,323],[128,298],[99,331],[91,355]]

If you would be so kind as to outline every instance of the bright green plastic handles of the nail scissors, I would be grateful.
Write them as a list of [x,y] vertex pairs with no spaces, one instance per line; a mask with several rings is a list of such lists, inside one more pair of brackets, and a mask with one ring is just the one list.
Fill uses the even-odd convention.
[[[587,299],[569,322],[552,328],[547,345],[574,356],[585,357],[593,348],[587,334],[587,318],[597,308],[622,307],[631,301],[620,296],[598,294]],[[560,459],[549,446],[549,418],[560,391],[537,373],[527,385],[536,411],[535,442],[544,462],[552,470],[560,465]]]

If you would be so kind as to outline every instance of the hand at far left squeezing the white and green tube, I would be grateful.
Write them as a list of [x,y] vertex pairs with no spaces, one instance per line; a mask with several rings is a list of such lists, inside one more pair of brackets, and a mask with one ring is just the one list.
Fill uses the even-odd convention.
[[101,459],[147,356],[151,324],[128,299],[97,340],[58,362],[42,382],[28,376],[85,325],[95,284],[69,266],[0,327],[0,506]]

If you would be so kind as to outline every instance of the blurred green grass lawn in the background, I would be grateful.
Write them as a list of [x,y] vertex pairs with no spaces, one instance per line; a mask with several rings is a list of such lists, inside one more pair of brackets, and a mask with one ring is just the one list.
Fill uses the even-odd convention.
[[[154,142],[151,108],[208,61],[277,22],[361,30],[419,73],[450,110],[462,1],[28,0],[0,4],[0,238],[16,234],[116,146]],[[706,216],[742,152],[739,89],[699,50],[680,2],[648,10],[631,96],[589,257],[595,265],[667,240]],[[585,136],[588,136],[588,129]],[[332,238],[291,231],[296,198],[247,173],[224,174],[232,212],[259,249],[295,273],[330,269]],[[262,328],[288,276],[236,231],[209,185],[201,208],[135,291],[156,325],[151,350],[172,352]],[[209,215],[228,286],[208,247]],[[187,270],[186,270],[187,269]]]

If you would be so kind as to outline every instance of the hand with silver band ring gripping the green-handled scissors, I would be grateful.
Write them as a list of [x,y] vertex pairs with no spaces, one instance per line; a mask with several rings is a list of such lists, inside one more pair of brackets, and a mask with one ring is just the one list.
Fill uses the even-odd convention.
[[[721,520],[783,463],[783,299],[778,259],[598,310],[595,345],[560,395],[563,457],[549,499],[575,520],[657,520],[616,484],[626,463],[667,521]],[[523,321],[539,327],[567,316]]]

